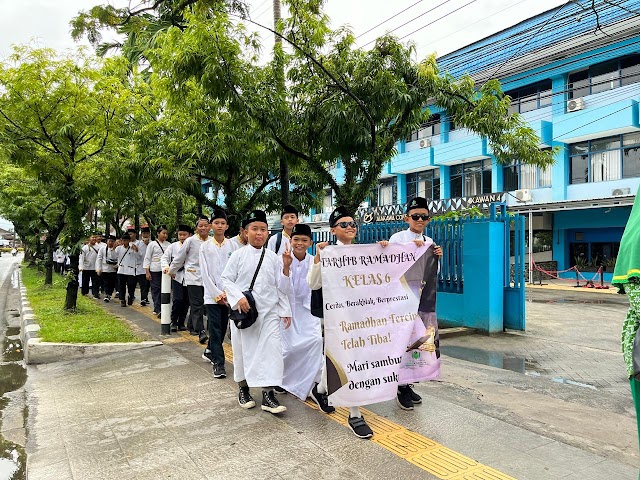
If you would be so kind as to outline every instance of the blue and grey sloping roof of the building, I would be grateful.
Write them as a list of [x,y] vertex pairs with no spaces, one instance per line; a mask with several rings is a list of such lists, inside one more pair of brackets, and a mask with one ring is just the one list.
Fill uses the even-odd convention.
[[444,55],[438,64],[454,77],[506,78],[640,32],[640,0],[596,2],[596,10],[591,0],[567,2]]

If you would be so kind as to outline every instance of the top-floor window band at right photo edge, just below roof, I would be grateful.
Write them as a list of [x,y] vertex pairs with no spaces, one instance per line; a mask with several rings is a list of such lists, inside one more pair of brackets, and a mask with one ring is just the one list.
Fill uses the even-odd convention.
[[569,75],[569,98],[584,97],[640,82],[640,55],[592,65]]

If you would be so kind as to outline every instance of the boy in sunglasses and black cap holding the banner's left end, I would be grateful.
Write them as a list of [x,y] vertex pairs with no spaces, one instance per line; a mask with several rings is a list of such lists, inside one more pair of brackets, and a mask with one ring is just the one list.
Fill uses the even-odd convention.
[[[353,216],[345,207],[337,207],[329,217],[331,233],[336,237],[337,245],[351,245],[358,233],[358,225],[353,220]],[[309,268],[307,282],[311,290],[322,288],[322,267],[320,264],[320,252],[329,245],[328,242],[321,242],[316,246],[316,256],[313,264]],[[317,391],[325,396],[327,394],[326,377],[322,379]],[[373,431],[367,425],[359,407],[349,407],[349,428],[358,438],[371,438]]]

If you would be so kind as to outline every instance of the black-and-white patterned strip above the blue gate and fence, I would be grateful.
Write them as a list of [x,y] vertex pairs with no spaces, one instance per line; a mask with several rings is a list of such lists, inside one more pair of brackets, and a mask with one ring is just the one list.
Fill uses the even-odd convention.
[[[481,210],[489,210],[492,203],[505,203],[506,192],[487,193],[473,197],[447,198],[444,200],[431,200],[429,213],[432,216],[442,215],[446,212],[457,212],[477,207]],[[358,218],[363,224],[398,222],[404,219],[405,205],[383,205],[381,207],[358,209]]]

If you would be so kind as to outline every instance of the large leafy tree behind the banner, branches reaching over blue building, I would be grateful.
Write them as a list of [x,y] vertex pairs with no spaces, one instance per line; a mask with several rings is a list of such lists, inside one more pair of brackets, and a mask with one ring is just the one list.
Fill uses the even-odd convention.
[[[276,30],[260,26],[287,45],[266,65],[256,35],[238,23],[242,15],[202,1],[180,12],[180,26],[156,30],[144,58],[176,88],[194,81],[230,113],[248,117],[252,123],[240,129],[257,125],[294,168],[317,175],[352,210],[371,194],[396,143],[426,121],[431,105],[486,137],[500,162],[514,156],[540,166],[553,162],[554,152],[540,151],[535,132],[508,113],[509,98],[496,80],[476,86],[470,77],[442,74],[433,56],[415,62],[413,46],[392,36],[379,38],[371,50],[356,48],[347,29],[329,28],[322,0],[283,3],[289,18]],[[338,161],[343,178],[336,175]]]

